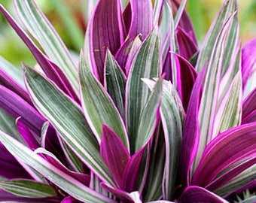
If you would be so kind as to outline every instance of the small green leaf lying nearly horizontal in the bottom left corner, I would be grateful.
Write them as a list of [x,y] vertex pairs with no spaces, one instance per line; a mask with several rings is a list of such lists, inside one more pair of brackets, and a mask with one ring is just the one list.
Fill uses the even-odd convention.
[[0,188],[14,195],[28,198],[47,198],[57,195],[50,185],[33,180],[6,180],[0,182]]

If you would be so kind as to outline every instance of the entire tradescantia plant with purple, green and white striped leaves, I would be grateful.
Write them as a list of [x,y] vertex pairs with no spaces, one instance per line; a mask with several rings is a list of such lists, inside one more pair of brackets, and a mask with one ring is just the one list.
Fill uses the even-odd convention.
[[186,1],[94,2],[78,61],[34,1],[14,1],[26,32],[0,5],[39,67],[0,59],[0,201],[255,201],[256,39],[241,48],[236,1],[200,48]]

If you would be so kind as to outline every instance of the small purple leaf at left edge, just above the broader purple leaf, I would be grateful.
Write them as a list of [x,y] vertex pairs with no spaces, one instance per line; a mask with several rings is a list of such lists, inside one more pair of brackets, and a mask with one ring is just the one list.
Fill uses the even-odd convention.
[[0,68],[0,84],[15,92],[21,98],[23,98],[29,105],[32,105],[32,101],[29,98],[29,94],[23,87],[21,87],[15,80],[13,80],[8,74]]

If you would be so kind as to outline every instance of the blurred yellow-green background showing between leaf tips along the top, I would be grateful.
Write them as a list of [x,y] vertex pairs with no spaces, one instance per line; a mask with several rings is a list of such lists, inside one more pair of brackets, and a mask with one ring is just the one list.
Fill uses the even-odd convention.
[[[123,0],[123,2],[126,1]],[[47,15],[66,46],[70,50],[79,52],[84,41],[86,27],[84,19],[87,19],[87,12],[91,10],[87,8],[87,4],[88,2],[93,4],[93,0],[35,0],[35,2]],[[187,0],[187,12],[194,24],[199,44],[202,43],[210,23],[221,8],[222,2],[224,0]],[[11,0],[0,0],[0,3],[11,14],[15,14]],[[245,44],[246,41],[256,36],[256,1],[238,0],[238,3],[240,36],[242,44]],[[20,61],[26,62],[28,65],[35,65],[32,54],[8,26],[2,15],[0,15],[0,56],[16,66],[20,66]]]

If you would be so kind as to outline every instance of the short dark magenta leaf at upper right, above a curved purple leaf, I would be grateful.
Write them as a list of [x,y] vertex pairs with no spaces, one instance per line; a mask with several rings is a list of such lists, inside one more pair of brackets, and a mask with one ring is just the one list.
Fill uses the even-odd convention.
[[180,55],[189,60],[197,52],[197,44],[181,27],[178,27],[176,36]]

